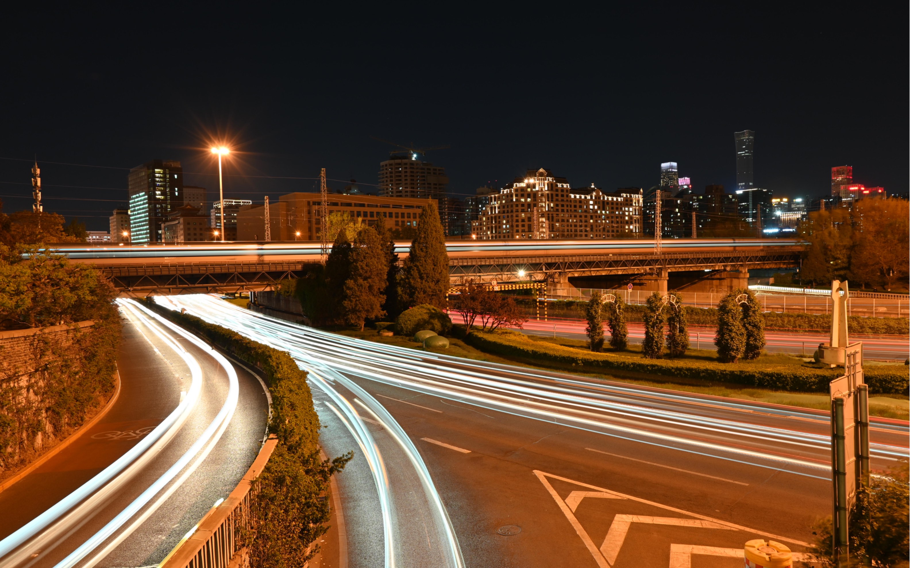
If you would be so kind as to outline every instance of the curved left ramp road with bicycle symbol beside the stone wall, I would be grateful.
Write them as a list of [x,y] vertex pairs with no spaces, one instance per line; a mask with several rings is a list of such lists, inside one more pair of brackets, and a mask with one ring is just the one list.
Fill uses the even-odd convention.
[[[88,493],[88,500],[71,514],[75,518],[64,518],[26,535],[25,544],[0,559],[0,566],[58,565],[92,537],[97,537],[97,545],[72,565],[158,563],[218,498],[227,497],[258,453],[268,417],[268,402],[258,379],[237,368],[237,404],[232,406],[227,371],[211,354],[162,324],[153,329],[145,314],[129,309],[123,314],[124,339],[118,357],[121,394],[116,404],[76,442],[0,493],[0,510],[4,512],[0,515],[0,536],[10,537],[42,513],[53,511],[58,506],[55,503],[154,435],[155,428],[167,421],[178,404],[194,397],[197,378],[195,403],[187,406],[185,420],[169,431],[172,437],[162,439],[166,443],[153,446],[136,459],[136,471],[127,468],[126,473]],[[183,356],[178,353],[182,350],[187,352]],[[198,365],[197,375],[189,360]],[[151,501],[137,506],[137,499],[153,483],[161,483],[168,471],[175,472],[175,464],[187,456],[228,406],[232,414],[221,414],[227,417],[227,424],[219,423],[224,428],[220,437],[207,439],[209,444],[216,439],[217,443],[211,445],[204,459],[196,463],[205,447],[192,453],[193,459],[185,467],[176,468],[160,491],[151,492]],[[126,515],[126,522],[114,526],[109,535],[98,536],[131,505],[136,506],[135,514]]]

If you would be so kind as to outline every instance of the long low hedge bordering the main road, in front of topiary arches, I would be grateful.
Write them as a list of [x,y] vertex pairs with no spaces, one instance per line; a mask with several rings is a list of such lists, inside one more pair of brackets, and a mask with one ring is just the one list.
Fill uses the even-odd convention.
[[[745,384],[778,391],[822,393],[841,372],[810,366],[783,364],[723,364],[686,359],[645,359],[634,355],[582,351],[564,345],[534,341],[525,334],[503,331],[471,332],[465,341],[481,351],[521,359],[528,363],[553,364],[581,370],[605,370],[612,374],[642,377],[664,375]],[[905,366],[876,366],[865,370],[865,382],[873,394],[908,394]]]

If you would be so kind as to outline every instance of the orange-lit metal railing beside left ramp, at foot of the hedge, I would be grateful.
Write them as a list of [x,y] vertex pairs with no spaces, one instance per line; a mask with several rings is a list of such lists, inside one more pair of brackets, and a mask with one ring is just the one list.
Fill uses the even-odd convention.
[[248,568],[246,548],[238,548],[238,532],[249,527],[250,500],[253,481],[265,469],[278,437],[268,436],[259,454],[227,499],[216,503],[202,520],[190,530],[158,568]]

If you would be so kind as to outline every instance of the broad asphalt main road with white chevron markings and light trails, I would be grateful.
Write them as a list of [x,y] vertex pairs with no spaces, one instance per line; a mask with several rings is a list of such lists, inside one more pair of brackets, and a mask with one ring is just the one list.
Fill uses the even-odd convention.
[[[358,526],[347,507],[375,511],[382,491],[375,475],[376,489],[369,483],[372,450],[346,437],[346,420],[376,439],[393,438],[397,428],[407,434],[469,566],[680,567],[693,555],[694,565],[741,565],[736,551],[752,538],[804,550],[810,524],[830,513],[829,426],[821,412],[370,344],[211,296],[174,301],[287,349],[314,374],[336,374],[314,379],[314,393],[326,399],[318,408],[329,425],[327,452],[356,453],[339,475],[351,566],[376,565],[370,559],[383,543],[375,531],[381,514],[365,514]],[[327,412],[328,399],[354,408],[379,402],[388,415],[342,420]],[[907,455],[907,434],[905,422],[874,419],[875,469]],[[384,459],[384,451],[392,477],[409,478],[407,461]],[[390,498],[394,506],[398,494]],[[405,526],[428,526],[411,521]],[[419,558],[440,544],[432,532],[425,545],[410,539],[404,546],[392,533],[390,545],[404,561]]]

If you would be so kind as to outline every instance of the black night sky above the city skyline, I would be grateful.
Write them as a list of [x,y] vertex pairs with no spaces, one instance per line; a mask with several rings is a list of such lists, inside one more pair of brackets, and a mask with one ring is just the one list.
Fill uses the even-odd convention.
[[211,199],[220,140],[238,151],[226,197],[313,191],[320,167],[370,189],[394,150],[374,136],[449,145],[427,159],[454,195],[541,166],[576,187],[647,188],[667,161],[699,192],[731,191],[744,129],[775,195],[829,193],[843,164],[906,192],[907,5],[752,4],[9,12],[0,199],[30,208],[21,159],[36,154],[45,211],[106,230],[128,169],[150,159],[180,160]]

